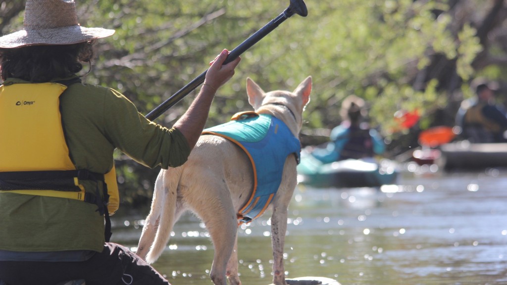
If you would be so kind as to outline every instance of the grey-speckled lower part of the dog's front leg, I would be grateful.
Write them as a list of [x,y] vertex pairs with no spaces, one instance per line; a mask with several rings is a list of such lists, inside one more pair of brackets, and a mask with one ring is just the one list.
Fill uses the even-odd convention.
[[271,245],[273,247],[273,284],[286,285],[283,267],[283,246],[287,230],[287,207],[273,207],[271,216]]

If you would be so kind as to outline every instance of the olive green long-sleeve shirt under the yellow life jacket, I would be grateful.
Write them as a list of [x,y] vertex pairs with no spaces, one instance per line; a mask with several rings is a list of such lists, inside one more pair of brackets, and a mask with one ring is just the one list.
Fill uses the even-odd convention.
[[[10,79],[4,85],[21,83],[27,82]],[[108,172],[116,148],[152,168],[182,165],[190,155],[182,133],[150,122],[113,89],[70,85],[60,96],[60,108],[69,155],[77,169]],[[96,184],[84,186],[95,192]],[[100,252],[104,219],[96,210],[97,205],[79,200],[0,193],[0,250]]]

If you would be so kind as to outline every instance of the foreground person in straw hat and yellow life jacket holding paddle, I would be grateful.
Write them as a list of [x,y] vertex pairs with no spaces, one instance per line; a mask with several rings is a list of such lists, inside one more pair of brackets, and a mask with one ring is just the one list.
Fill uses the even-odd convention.
[[[240,59],[222,65],[223,50],[168,129],[118,91],[76,75],[91,65],[95,40],[114,32],[79,25],[74,0],[28,0],[24,29],[0,37],[0,283],[169,284],[127,247],[107,242],[107,188],[116,177],[110,184],[105,173],[114,170],[115,149],[151,168],[185,163]],[[67,198],[74,193],[84,200]]]

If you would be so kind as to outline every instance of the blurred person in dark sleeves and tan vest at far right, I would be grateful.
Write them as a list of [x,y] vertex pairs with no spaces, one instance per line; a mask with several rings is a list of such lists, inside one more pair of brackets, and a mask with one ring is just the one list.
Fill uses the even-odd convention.
[[475,80],[475,98],[464,100],[456,114],[456,125],[464,139],[474,143],[507,142],[507,117],[495,104],[494,82]]

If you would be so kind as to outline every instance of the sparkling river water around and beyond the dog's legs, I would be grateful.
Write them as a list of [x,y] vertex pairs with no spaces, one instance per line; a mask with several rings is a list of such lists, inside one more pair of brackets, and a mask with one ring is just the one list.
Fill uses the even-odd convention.
[[[270,216],[239,229],[245,285],[271,283]],[[114,217],[112,241],[135,250],[144,217]],[[382,189],[298,185],[287,222],[287,278],[324,276],[343,285],[507,284],[507,170],[404,171],[397,185]],[[204,226],[189,214],[154,266],[173,285],[211,284],[212,259]]]

